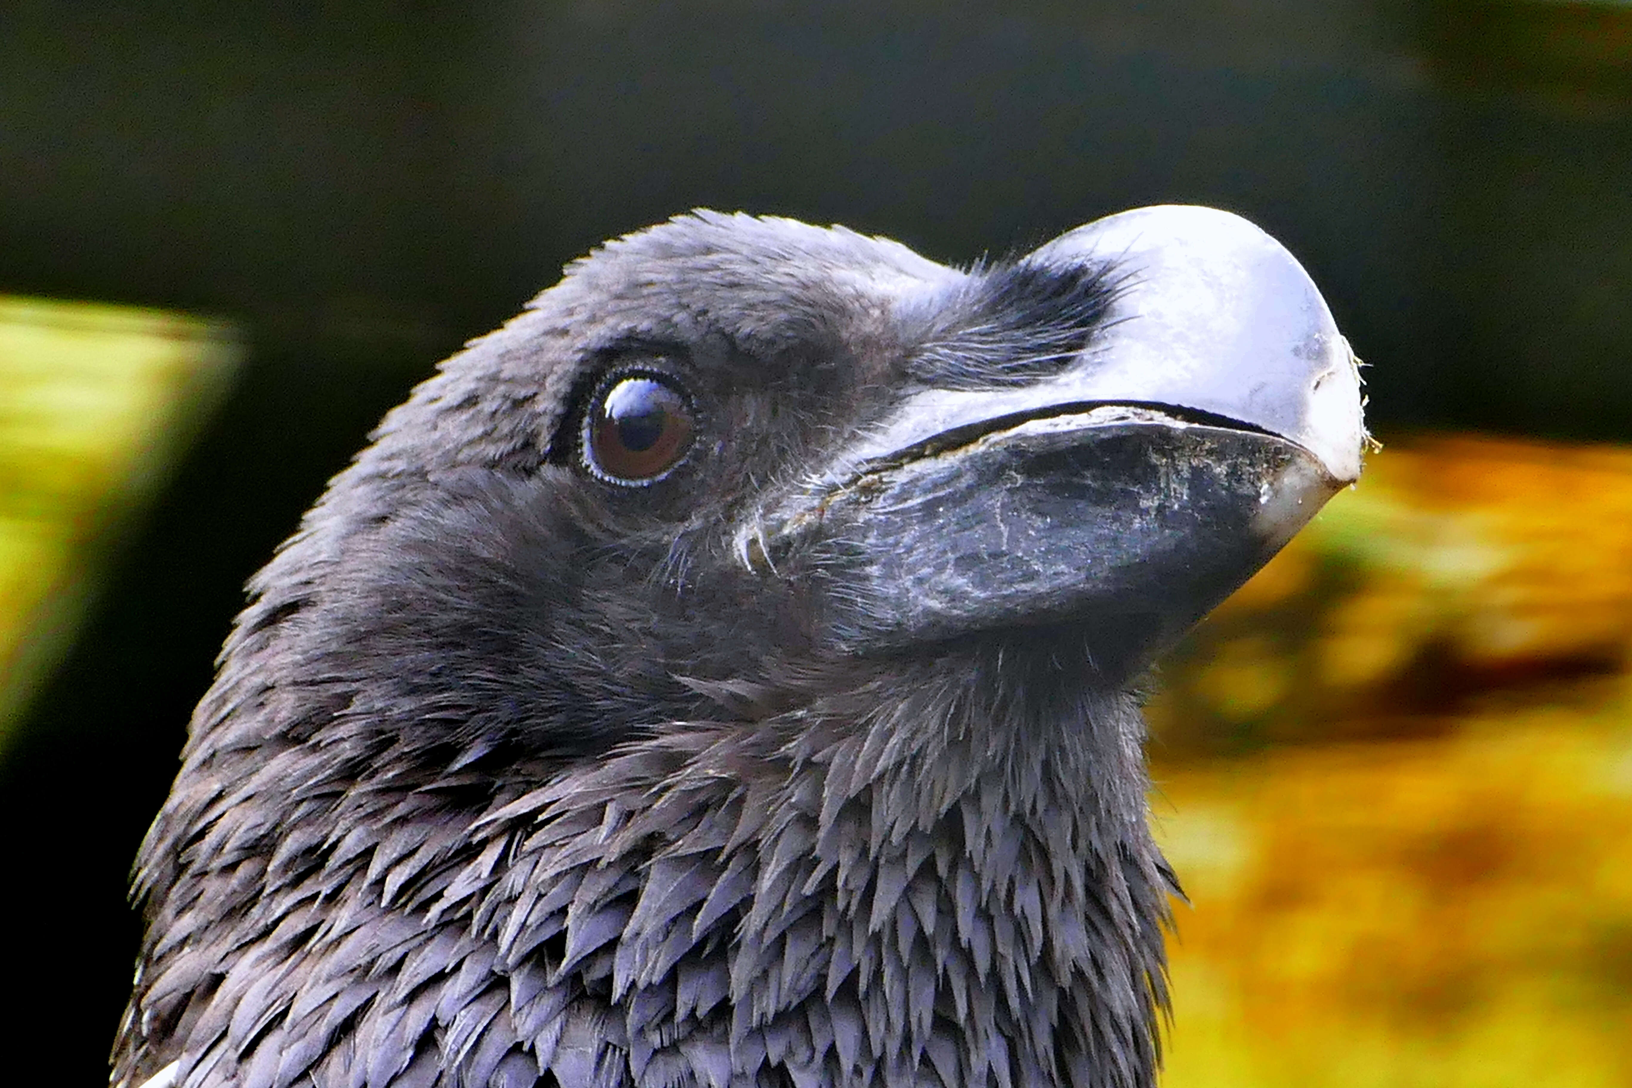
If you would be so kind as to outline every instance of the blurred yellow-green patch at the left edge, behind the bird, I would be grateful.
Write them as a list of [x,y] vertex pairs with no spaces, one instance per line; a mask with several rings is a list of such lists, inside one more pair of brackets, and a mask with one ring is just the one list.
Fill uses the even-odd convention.
[[0,295],[0,752],[235,360],[220,323]]

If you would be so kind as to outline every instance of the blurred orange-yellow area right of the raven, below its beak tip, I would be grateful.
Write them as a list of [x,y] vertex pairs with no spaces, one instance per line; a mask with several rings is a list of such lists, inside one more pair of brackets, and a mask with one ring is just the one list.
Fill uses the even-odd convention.
[[1152,705],[1167,1088],[1632,1085],[1632,452],[1373,458]]

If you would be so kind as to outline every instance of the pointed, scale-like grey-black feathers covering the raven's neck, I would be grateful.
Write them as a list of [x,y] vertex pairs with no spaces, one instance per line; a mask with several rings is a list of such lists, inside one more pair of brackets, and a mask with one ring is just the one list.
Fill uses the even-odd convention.
[[485,811],[468,770],[237,832],[258,809],[217,809],[220,848],[160,905],[193,936],[150,943],[119,1065],[1154,1085],[1169,881],[1133,698],[920,680],[674,728]]

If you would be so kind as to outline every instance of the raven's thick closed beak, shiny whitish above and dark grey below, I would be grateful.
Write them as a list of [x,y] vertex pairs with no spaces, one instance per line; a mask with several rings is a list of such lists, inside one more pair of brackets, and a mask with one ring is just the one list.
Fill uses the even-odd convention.
[[840,649],[1072,625],[1121,675],[1359,476],[1348,341],[1247,220],[1139,209],[1025,261],[1111,269],[1106,318],[1072,364],[1020,388],[902,398],[764,522],[774,553],[814,550]]

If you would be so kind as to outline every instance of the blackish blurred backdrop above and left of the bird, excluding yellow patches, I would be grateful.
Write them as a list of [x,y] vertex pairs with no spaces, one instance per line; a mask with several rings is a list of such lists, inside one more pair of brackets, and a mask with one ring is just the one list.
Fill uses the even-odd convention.
[[1299,254],[1384,437],[1632,439],[1627,5],[8,2],[0,292],[248,356],[0,765],[7,1078],[104,1078],[129,860],[245,577],[565,261],[694,206],[969,261],[1170,201]]

